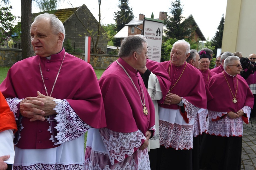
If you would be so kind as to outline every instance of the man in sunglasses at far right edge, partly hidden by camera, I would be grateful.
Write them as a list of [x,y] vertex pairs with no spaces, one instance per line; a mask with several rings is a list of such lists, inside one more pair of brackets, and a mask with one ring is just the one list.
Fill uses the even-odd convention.
[[[250,54],[249,55],[249,60],[252,62],[252,64],[255,63],[256,61],[256,54]],[[256,116],[256,73],[253,72],[252,74],[249,75],[249,77],[246,79],[247,84],[249,85],[252,94],[254,96],[254,105],[253,108],[251,110],[251,115],[250,117],[255,117]]]

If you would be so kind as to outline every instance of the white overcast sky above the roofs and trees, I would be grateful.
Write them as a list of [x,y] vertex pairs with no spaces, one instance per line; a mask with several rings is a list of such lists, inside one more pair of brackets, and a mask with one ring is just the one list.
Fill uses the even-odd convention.
[[[98,20],[98,1],[97,0],[61,0],[57,9],[79,7],[85,4],[94,17]],[[144,14],[150,18],[152,12],[154,18],[159,18],[159,12],[164,11],[170,13],[170,3],[174,0],[129,0],[129,6],[133,9],[135,17]],[[12,13],[15,16],[21,15],[20,0],[10,0],[13,6]],[[118,0],[102,0],[101,2],[101,22],[102,24],[114,24],[114,12],[118,9]],[[204,37],[212,39],[215,36],[217,28],[220,24],[222,15],[226,15],[227,0],[181,0],[183,5],[183,16],[186,18],[190,14],[193,15],[197,25],[202,31]],[[32,13],[39,12],[39,9],[32,3]]]

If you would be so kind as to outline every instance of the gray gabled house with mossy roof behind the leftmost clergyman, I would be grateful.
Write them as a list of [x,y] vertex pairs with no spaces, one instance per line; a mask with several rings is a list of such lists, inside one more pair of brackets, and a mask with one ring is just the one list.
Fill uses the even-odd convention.
[[[76,12],[76,14],[74,11]],[[69,46],[69,48],[73,48],[77,52],[84,53],[85,36],[91,36],[88,31],[94,30],[92,32],[92,38],[91,38],[91,51],[92,51],[93,40],[94,40],[94,44],[96,43],[96,40],[97,40],[98,21],[95,19],[95,17],[92,15],[92,13],[86,7],[85,4],[77,8],[58,9],[58,10],[50,11],[49,13],[55,14],[62,21],[65,27],[66,38],[63,43],[63,46],[65,49],[67,48],[67,46]],[[40,13],[32,14],[32,18],[36,17],[39,14]],[[108,39],[106,36],[102,35],[102,32],[104,32],[104,30],[101,26],[100,26],[100,30],[101,30],[101,33],[100,33],[100,38],[99,38],[97,47],[99,50],[106,53]],[[20,44],[20,42],[15,42],[15,43]],[[67,45],[67,43],[69,44]],[[17,45],[16,45],[16,48],[18,48]]]

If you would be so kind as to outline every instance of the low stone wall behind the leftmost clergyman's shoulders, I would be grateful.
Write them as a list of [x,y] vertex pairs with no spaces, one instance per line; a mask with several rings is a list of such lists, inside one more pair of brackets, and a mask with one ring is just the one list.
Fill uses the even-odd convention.
[[[84,54],[72,55],[84,60]],[[91,54],[90,64],[96,69],[106,69],[117,59],[117,55]],[[0,48],[0,67],[10,67],[19,60],[22,60],[21,49]]]

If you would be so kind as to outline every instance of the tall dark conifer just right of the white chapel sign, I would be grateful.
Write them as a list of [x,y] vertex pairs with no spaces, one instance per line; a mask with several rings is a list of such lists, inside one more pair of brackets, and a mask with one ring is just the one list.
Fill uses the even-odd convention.
[[196,29],[196,26],[193,26],[193,19],[189,17],[185,19],[182,16],[183,6],[180,3],[180,0],[175,0],[171,2],[170,14],[165,20],[166,25],[166,36],[169,38],[176,39],[190,39],[193,37],[193,32]]

